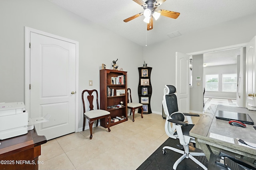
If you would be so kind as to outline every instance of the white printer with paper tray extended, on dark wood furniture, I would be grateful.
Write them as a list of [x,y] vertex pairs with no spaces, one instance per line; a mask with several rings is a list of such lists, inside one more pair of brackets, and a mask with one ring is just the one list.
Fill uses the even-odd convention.
[[[47,117],[50,118],[48,115]],[[0,103],[0,140],[24,135],[34,129],[34,123],[42,123],[48,119],[30,119],[23,102]]]

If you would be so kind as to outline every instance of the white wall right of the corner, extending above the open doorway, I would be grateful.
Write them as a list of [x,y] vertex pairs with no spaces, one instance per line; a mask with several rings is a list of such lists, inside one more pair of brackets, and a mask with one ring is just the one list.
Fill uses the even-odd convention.
[[[153,91],[151,98],[152,111],[162,112],[164,85],[175,85],[176,51],[188,54],[248,43],[255,35],[256,14],[237,20],[227,21],[225,23],[172,38],[162,43],[144,47],[144,60],[148,63],[148,66],[153,67],[152,76],[150,77]],[[197,96],[193,96],[192,100],[197,100]],[[195,111],[200,110],[201,107]]]

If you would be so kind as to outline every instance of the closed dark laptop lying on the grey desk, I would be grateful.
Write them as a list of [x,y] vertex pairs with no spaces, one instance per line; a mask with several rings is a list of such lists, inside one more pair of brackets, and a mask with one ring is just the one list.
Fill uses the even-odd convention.
[[249,125],[254,125],[254,122],[252,121],[252,118],[246,114],[246,113],[238,113],[238,112],[232,112],[232,111],[222,111],[222,110],[217,110],[215,117],[217,119],[222,119],[222,120],[237,120],[242,123],[246,123]]

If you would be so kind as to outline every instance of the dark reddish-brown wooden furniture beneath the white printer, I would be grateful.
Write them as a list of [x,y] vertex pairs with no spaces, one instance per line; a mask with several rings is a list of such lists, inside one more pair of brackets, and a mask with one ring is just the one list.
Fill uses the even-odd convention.
[[0,145],[1,170],[38,170],[38,156],[46,137],[38,136],[33,129],[27,134],[4,139]]

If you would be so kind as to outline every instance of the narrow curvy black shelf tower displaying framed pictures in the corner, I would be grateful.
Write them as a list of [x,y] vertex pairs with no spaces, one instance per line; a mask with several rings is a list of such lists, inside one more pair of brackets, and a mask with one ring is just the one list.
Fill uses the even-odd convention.
[[[152,86],[150,75],[152,67],[138,67],[139,70],[139,85],[138,85],[138,95],[139,102],[143,104],[143,114],[152,113],[150,107],[150,99],[152,94]],[[141,113],[141,110],[138,110]]]

